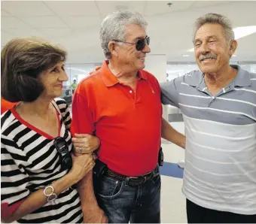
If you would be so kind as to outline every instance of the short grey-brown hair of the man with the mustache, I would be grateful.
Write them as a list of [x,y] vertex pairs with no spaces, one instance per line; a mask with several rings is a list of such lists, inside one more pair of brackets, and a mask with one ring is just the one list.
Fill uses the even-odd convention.
[[199,17],[196,20],[196,23],[194,26],[193,43],[195,41],[197,30],[200,29],[200,27],[205,25],[206,23],[214,23],[214,24],[221,25],[224,29],[224,34],[226,36],[226,40],[228,44],[230,44],[230,42],[234,40],[235,35],[232,30],[231,21],[228,20],[227,17],[224,17],[220,14],[206,14],[203,17]]

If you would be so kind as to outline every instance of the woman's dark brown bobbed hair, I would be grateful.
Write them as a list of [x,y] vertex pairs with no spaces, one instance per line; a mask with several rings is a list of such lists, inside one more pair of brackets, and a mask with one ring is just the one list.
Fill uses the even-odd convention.
[[1,52],[1,94],[7,101],[35,101],[44,91],[41,72],[66,61],[66,50],[39,38],[17,38]]

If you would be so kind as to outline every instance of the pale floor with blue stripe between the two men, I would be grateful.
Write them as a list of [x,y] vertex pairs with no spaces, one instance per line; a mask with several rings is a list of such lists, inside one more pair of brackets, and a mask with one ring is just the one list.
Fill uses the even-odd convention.
[[[184,133],[184,123],[171,123],[171,125],[178,132]],[[162,147],[164,161],[167,164],[163,165],[161,171],[161,222],[187,223],[185,198],[181,192],[183,180],[180,177],[183,172],[176,165],[180,159],[184,159],[184,150],[175,144],[162,144]]]

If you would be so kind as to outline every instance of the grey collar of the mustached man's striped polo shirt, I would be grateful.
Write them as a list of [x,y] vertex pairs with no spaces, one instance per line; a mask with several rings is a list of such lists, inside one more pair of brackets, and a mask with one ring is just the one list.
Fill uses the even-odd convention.
[[[233,86],[251,86],[250,74],[248,71],[243,70],[239,65],[230,65],[233,68],[238,70],[235,79],[233,80]],[[197,89],[205,89],[206,83],[204,79],[204,74],[202,71],[195,71],[195,75],[190,74],[190,78],[187,79],[187,84],[190,86],[194,86]]]

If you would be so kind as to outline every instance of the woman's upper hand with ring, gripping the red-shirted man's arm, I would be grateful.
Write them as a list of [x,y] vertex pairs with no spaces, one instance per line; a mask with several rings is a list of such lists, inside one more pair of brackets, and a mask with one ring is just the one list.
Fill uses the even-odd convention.
[[72,138],[72,143],[76,153],[88,154],[99,148],[99,138],[88,134],[75,134],[75,138]]

